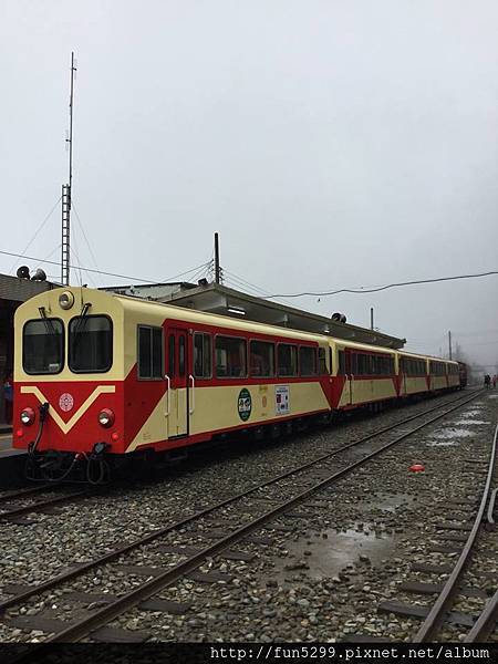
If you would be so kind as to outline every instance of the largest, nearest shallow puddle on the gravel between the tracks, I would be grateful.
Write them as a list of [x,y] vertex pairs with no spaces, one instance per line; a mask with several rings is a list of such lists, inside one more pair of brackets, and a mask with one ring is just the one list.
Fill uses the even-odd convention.
[[[323,579],[325,577],[336,577],[339,572],[350,564],[357,562],[360,554],[367,556],[373,567],[380,567],[382,561],[392,557],[395,550],[395,542],[392,536],[375,536],[373,533],[359,532],[349,529],[345,532],[335,530],[325,530],[328,539],[315,539],[311,544],[302,541],[288,542],[290,556],[286,559],[279,559],[280,564],[292,566],[305,561],[309,569],[276,569],[273,578],[281,583],[290,579],[300,571],[305,571],[312,579]],[[311,556],[304,556],[304,551],[310,551]]]

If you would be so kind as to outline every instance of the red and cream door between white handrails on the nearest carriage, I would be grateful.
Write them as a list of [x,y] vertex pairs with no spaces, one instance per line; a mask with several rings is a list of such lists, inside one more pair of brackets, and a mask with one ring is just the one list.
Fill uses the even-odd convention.
[[166,335],[166,412],[168,438],[188,435],[188,332],[168,328]]

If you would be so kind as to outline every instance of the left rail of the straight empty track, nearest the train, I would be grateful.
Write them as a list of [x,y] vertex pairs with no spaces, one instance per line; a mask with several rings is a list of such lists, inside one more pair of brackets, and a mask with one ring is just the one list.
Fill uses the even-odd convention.
[[[452,409],[449,409],[449,411],[445,411],[445,413],[442,415],[442,417],[445,416],[447,413],[456,409],[457,407],[460,407],[460,406],[474,401],[475,398],[477,398],[477,396],[479,396],[479,394],[481,394],[481,392],[483,392],[483,390],[479,390],[476,393],[474,393],[471,397],[466,397],[466,398],[460,397],[458,400],[452,401],[450,404],[456,403],[457,405],[454,405],[454,407],[452,407]],[[211,505],[207,508],[204,508],[201,510],[194,512],[189,517],[184,517],[177,521],[174,521],[173,523],[168,523],[167,526],[159,528],[157,530],[154,530],[153,532],[151,532],[144,537],[141,537],[127,544],[123,544],[122,547],[118,547],[117,549],[114,549],[113,551],[110,551],[108,553],[104,553],[103,556],[101,556],[92,561],[79,564],[77,568],[68,570],[66,572],[64,572],[62,574],[58,574],[56,577],[52,577],[51,579],[48,579],[46,581],[39,583],[29,590],[25,590],[17,595],[13,595],[12,598],[9,598],[9,599],[0,602],[0,614],[3,611],[6,611],[6,609],[10,609],[11,606],[19,604],[20,602],[23,602],[24,600],[28,600],[33,595],[45,592],[46,590],[51,590],[52,588],[54,588],[65,581],[70,581],[71,579],[74,579],[75,577],[79,577],[95,567],[100,567],[102,564],[111,562],[111,561],[120,558],[120,556],[123,556],[124,553],[128,553],[129,551],[133,551],[134,549],[137,549],[138,547],[148,544],[148,543],[153,542],[154,540],[164,537],[168,532],[172,532],[184,526],[187,526],[188,523],[191,523],[193,521],[195,521],[197,519],[206,517],[217,509],[227,507],[231,502],[240,500],[241,498],[246,498],[247,496],[255,494],[259,489],[262,489],[272,484],[276,484],[277,481],[280,481],[282,479],[286,479],[287,477],[290,477],[291,475],[295,475],[297,473],[301,473],[302,470],[305,470],[307,468],[309,468],[313,465],[320,464],[323,460],[332,458],[333,456],[335,456],[342,452],[345,452],[345,450],[350,449],[351,447],[360,446],[363,443],[371,440],[375,436],[380,436],[384,433],[387,433],[394,428],[397,428],[398,426],[406,424],[407,422],[412,422],[413,419],[423,417],[424,415],[427,415],[428,413],[433,413],[434,411],[438,411],[447,405],[448,405],[447,403],[439,404],[438,406],[435,406],[434,408],[429,408],[428,411],[424,411],[423,413],[419,413],[417,415],[412,415],[409,417],[406,417],[405,419],[396,422],[395,424],[392,424],[390,426],[377,429],[376,432],[369,434],[367,436],[361,438],[360,440],[355,440],[354,443],[350,443],[342,447],[338,447],[336,449],[332,450],[331,453],[322,455],[322,456],[320,456],[315,459],[312,459],[311,461],[308,461],[301,466],[293,467],[290,470],[287,470],[286,473],[277,475],[277,476],[266,480],[264,483],[260,483],[255,487],[250,487],[249,489],[246,489],[245,491],[241,491],[240,494],[237,494],[236,496],[231,496],[230,498],[226,498],[225,500],[215,502],[214,505]],[[427,423],[427,424],[429,424],[429,423]],[[423,426],[426,426],[426,425],[424,424]]]

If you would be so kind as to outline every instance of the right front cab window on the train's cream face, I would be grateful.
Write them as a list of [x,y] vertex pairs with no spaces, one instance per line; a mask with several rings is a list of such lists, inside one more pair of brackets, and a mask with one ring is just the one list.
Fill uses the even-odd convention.
[[79,315],[69,325],[69,366],[74,373],[102,373],[113,363],[113,324],[106,315]]

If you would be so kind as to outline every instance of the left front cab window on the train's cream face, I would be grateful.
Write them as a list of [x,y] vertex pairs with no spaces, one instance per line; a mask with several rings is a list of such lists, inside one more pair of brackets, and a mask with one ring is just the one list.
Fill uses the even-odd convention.
[[22,366],[27,374],[55,374],[64,365],[64,325],[59,319],[28,321],[22,334]]

